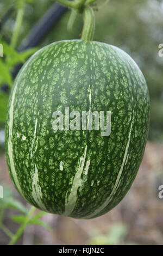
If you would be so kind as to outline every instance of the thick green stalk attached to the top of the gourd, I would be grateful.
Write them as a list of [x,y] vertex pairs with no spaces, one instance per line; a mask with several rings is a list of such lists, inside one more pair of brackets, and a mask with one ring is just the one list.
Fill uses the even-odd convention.
[[82,40],[93,40],[95,33],[95,15],[90,6],[86,6],[83,10],[84,26],[82,31]]

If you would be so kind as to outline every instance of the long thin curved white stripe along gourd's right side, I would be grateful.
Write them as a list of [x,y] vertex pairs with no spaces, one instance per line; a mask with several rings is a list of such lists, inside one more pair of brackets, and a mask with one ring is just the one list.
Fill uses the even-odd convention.
[[131,130],[132,130],[132,127],[133,127],[133,123],[134,123],[134,113],[133,113],[133,119],[131,120],[131,125],[130,125],[130,130],[129,130],[129,136],[128,136],[128,142],[127,142],[126,149],[125,149],[125,152],[124,152],[122,165],[121,165],[121,168],[120,168],[120,170],[119,170],[119,172],[118,172],[115,185],[114,185],[114,187],[112,188],[112,191],[111,191],[109,197],[106,198],[105,202],[104,202],[101,206],[99,206],[99,208],[97,208],[94,212],[92,212],[92,214],[87,215],[87,216],[84,216],[84,218],[92,218],[92,217],[96,216],[97,214],[99,214],[102,210],[104,210],[105,207],[111,202],[112,197],[114,196],[115,192],[117,191],[118,187],[120,186],[120,183],[121,183],[121,175],[122,175],[122,172],[123,172],[124,163],[126,164],[126,163],[127,163],[127,160],[128,160],[128,159],[127,159],[127,155],[128,155],[128,149],[129,149],[129,144],[130,144]]

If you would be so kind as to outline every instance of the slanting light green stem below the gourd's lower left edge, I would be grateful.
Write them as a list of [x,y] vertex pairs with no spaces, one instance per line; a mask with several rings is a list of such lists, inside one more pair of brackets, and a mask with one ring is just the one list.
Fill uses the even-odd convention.
[[17,240],[20,238],[20,236],[22,235],[24,229],[26,229],[34,211],[36,210],[36,208],[34,206],[32,206],[28,212],[26,221],[21,225],[20,228],[17,229],[17,232],[14,236],[12,236],[12,239],[9,242],[9,245],[15,245],[15,243],[17,242]]

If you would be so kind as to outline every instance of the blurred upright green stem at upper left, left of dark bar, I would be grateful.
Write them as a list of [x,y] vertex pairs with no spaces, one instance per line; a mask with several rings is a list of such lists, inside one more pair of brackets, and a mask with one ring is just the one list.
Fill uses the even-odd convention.
[[12,48],[15,48],[16,44],[17,44],[18,35],[20,33],[20,29],[21,29],[21,25],[22,25],[23,14],[24,14],[24,4],[22,3],[21,7],[19,7],[17,10],[14,32],[13,32],[12,38],[11,38]]

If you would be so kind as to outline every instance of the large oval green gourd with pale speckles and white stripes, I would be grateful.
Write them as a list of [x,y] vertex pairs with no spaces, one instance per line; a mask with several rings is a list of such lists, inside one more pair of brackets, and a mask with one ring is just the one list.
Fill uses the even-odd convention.
[[[54,112],[65,117],[67,107],[80,114],[110,111],[110,135],[82,129],[82,114],[80,129],[64,123],[54,130]],[[5,143],[11,179],[41,210],[74,218],[103,215],[134,181],[148,129],[146,81],[127,53],[102,42],[55,42],[23,65],[10,94]]]

